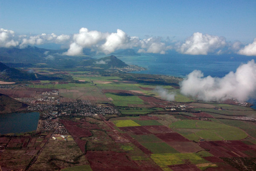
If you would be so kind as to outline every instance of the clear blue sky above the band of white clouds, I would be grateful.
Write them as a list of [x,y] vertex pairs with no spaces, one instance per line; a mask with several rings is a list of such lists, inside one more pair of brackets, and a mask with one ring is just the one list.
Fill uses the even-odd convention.
[[18,34],[73,34],[81,27],[117,28],[130,36],[185,40],[194,32],[251,42],[256,37],[255,0],[2,0],[0,27]]

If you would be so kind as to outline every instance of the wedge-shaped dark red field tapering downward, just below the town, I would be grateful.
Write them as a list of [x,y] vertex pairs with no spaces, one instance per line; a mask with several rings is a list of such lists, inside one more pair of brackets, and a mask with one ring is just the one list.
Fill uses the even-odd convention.
[[81,151],[85,153],[85,140],[81,140],[81,137],[90,137],[92,136],[92,133],[90,130],[80,128],[77,125],[80,125],[81,123],[73,122],[71,120],[61,120],[61,123],[64,125],[64,127],[67,129],[67,131],[71,134],[73,139],[75,140],[76,144],[79,146]]

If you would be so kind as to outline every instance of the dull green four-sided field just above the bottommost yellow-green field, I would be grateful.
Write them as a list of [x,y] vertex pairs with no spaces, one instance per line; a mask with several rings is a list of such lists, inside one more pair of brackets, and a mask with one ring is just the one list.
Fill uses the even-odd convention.
[[166,142],[143,142],[141,145],[148,148],[153,154],[179,153]]

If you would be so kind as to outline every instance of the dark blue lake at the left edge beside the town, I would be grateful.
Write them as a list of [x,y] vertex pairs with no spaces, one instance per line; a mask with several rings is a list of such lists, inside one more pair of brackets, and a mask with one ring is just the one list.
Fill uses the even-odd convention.
[[36,131],[38,112],[0,114],[0,134]]

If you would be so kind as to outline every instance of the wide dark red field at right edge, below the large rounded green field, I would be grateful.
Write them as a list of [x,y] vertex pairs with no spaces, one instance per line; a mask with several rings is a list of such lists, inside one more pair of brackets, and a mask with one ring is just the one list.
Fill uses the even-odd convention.
[[243,151],[256,153],[255,145],[246,145],[241,141],[200,142],[200,146],[216,157],[250,157]]

